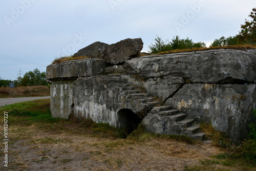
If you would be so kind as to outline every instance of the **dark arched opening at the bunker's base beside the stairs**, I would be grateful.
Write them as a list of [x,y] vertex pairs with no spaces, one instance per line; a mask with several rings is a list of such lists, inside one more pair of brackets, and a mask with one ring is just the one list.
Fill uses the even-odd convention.
[[127,134],[130,134],[137,129],[138,124],[141,123],[141,118],[137,116],[130,109],[121,109],[117,112],[120,128],[125,129]]

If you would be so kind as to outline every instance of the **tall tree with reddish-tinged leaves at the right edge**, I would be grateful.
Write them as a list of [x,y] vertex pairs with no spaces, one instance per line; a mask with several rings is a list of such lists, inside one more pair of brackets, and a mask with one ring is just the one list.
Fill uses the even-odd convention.
[[245,19],[245,24],[241,25],[241,31],[237,35],[241,44],[256,44],[256,8],[248,15],[252,20]]

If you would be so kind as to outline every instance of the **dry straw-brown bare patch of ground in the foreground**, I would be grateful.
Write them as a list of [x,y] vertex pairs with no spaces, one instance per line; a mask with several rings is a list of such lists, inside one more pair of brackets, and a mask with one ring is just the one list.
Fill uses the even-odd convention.
[[51,134],[33,125],[10,132],[10,163],[4,170],[184,170],[221,153],[210,144]]

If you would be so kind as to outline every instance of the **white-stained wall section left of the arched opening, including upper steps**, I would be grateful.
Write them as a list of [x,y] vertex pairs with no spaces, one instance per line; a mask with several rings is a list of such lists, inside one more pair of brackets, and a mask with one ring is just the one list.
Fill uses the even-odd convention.
[[78,78],[74,86],[74,115],[121,127],[120,110],[129,109],[143,118],[157,104],[141,91],[121,77]]

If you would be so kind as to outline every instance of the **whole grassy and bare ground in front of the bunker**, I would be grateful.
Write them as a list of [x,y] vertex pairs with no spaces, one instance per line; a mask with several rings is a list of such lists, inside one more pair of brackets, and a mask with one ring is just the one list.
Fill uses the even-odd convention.
[[148,134],[143,126],[126,135],[91,120],[52,118],[49,99],[0,107],[2,128],[5,112],[8,153],[0,143],[0,160],[8,154],[9,163],[1,161],[0,170],[255,170],[214,143]]

